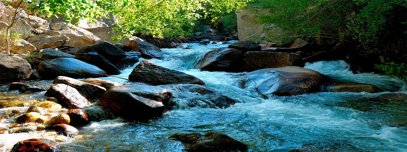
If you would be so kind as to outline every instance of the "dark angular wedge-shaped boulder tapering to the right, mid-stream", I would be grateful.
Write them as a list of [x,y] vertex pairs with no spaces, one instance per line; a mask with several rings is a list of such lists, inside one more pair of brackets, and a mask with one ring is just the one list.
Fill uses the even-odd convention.
[[184,72],[156,65],[149,60],[142,60],[129,75],[133,82],[144,82],[152,85],[197,84],[205,85],[201,80]]

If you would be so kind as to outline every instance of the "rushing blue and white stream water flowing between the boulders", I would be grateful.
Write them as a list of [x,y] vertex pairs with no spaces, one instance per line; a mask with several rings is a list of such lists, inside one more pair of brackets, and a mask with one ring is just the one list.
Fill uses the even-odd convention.
[[[403,81],[373,73],[353,74],[344,61],[306,63],[310,68],[329,75],[335,83],[368,83],[381,87],[381,93],[319,92],[298,96],[268,96],[265,99],[250,90],[239,88],[239,74],[208,72],[196,69],[197,63],[217,44],[188,44],[192,49],[163,49],[157,65],[180,70],[198,77],[206,86],[240,101],[228,108],[205,108],[202,102],[190,107],[177,98],[175,109],[150,122],[129,122],[112,118],[79,128],[80,134],[61,143],[63,151],[182,151],[180,141],[168,139],[175,133],[217,132],[248,145],[248,151],[406,151],[407,101],[373,102],[369,98],[390,92],[406,93]],[[135,65],[134,65],[135,66]],[[128,78],[130,67],[116,75]],[[104,80],[125,80],[108,77]],[[44,86],[51,81],[37,82]],[[4,86],[0,89],[5,89]],[[2,93],[2,92],[0,92]],[[44,92],[2,96],[44,98]],[[188,96],[173,92],[176,97]],[[7,122],[3,121],[2,124]],[[0,145],[12,146],[30,137],[45,137],[44,132],[0,134]],[[0,150],[4,150],[3,148]]]

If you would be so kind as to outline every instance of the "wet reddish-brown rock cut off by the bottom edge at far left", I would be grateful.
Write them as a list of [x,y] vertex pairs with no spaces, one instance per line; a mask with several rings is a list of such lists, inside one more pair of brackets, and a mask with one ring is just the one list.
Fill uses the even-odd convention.
[[22,152],[22,151],[47,151],[47,152],[59,152],[60,146],[57,142],[49,139],[27,139],[19,141],[14,144],[12,152]]

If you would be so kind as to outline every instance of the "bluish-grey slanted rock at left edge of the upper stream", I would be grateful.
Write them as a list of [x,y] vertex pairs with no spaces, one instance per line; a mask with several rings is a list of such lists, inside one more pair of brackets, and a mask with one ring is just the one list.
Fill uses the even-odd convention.
[[151,58],[156,58],[156,59],[161,59],[162,58],[162,51],[160,48],[152,45],[151,43],[144,42],[144,41],[139,41],[139,40],[134,40],[138,47],[141,49],[139,50],[141,53],[141,57],[144,59],[151,59]]

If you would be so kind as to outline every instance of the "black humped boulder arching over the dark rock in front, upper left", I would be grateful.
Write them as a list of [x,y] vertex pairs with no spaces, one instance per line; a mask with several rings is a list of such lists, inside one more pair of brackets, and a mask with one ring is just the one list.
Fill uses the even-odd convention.
[[80,48],[76,53],[89,53],[97,52],[106,58],[110,63],[118,62],[121,59],[126,58],[124,51],[118,47],[113,46],[108,42],[101,42],[94,45],[84,46]]

